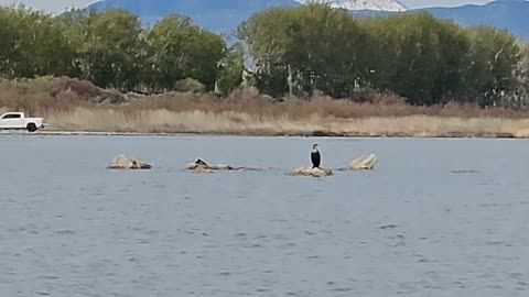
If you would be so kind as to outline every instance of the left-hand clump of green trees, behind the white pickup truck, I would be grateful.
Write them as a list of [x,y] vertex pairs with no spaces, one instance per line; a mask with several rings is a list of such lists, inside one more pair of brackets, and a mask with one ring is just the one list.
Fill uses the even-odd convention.
[[0,77],[87,79],[122,91],[163,91],[186,78],[229,92],[244,69],[242,47],[172,14],[152,29],[125,10],[69,11],[57,16],[0,8]]

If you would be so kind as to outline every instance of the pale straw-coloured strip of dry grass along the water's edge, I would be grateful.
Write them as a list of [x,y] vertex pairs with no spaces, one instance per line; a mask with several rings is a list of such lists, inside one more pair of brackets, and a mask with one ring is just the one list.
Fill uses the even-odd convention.
[[46,114],[50,128],[60,131],[143,133],[215,133],[245,135],[344,136],[514,136],[529,129],[529,119],[449,118],[439,116],[322,118],[299,120],[288,116],[244,112],[77,108]]

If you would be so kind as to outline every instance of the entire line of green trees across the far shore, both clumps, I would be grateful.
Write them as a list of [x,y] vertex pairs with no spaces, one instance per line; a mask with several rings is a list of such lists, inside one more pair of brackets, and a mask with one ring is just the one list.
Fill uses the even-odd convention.
[[[238,30],[246,84],[276,97],[391,92],[412,105],[529,105],[529,53],[507,31],[429,13],[356,18],[324,4],[274,8]],[[0,8],[0,77],[69,76],[122,91],[177,90],[187,78],[228,94],[244,47],[172,14],[144,29],[125,10],[57,16]]]

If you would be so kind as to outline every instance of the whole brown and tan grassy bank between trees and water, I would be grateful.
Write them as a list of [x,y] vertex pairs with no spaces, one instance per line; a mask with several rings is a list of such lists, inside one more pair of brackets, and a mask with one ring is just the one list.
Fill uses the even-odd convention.
[[52,131],[343,136],[529,136],[529,112],[411,107],[392,96],[274,100],[253,89],[121,95],[68,78],[0,82],[2,111],[44,117]]

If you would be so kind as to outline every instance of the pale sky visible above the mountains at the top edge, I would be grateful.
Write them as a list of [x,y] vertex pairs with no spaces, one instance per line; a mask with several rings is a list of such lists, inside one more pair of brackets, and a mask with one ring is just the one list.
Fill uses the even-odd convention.
[[[222,0],[219,0],[222,1]],[[72,7],[85,7],[94,0],[0,0],[0,4],[12,4],[12,3],[24,3],[31,8],[37,10],[45,10],[48,12],[60,12],[66,8]],[[400,0],[400,2],[407,4],[410,8],[422,8],[422,7],[432,7],[432,6],[461,6],[467,3],[486,3],[489,0]]]

